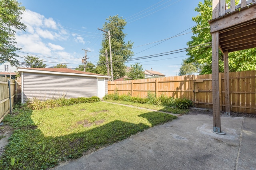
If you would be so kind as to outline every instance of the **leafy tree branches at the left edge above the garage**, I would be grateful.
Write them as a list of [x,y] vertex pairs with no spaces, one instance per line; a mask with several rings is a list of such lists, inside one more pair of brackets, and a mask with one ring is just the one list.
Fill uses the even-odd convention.
[[24,6],[20,6],[16,0],[0,0],[0,63],[10,62],[11,65],[18,66],[20,57],[15,52],[21,50],[16,47],[14,29],[24,30],[26,25],[21,23],[21,14],[25,11]]

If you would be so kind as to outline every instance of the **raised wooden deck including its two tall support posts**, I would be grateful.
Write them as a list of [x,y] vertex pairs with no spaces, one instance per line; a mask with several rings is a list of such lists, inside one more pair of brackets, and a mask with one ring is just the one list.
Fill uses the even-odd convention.
[[230,114],[228,53],[256,47],[256,0],[241,0],[235,5],[230,0],[212,1],[212,20],[209,21],[212,34],[212,101],[213,131],[221,133],[219,92],[219,49],[224,54],[224,84],[226,114]]

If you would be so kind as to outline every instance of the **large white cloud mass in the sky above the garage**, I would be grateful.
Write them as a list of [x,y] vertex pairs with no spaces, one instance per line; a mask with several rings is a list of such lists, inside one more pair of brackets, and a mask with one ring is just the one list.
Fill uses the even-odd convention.
[[[62,45],[65,44],[65,42],[63,43],[63,41],[67,41],[68,39],[70,40],[70,37],[74,37],[74,40],[77,43],[84,44],[84,38],[76,35],[75,33],[68,33],[59,23],[54,21],[53,18],[45,18],[43,15],[32,12],[30,10],[26,10],[26,12],[24,12],[24,14],[22,15],[22,23],[27,26],[26,31],[24,32],[16,30],[17,47],[22,48],[21,52],[23,52],[18,52],[20,56],[26,55],[24,53],[28,53],[28,55],[37,55],[45,62],[81,62],[81,59],[77,59],[77,55],[75,53],[69,53],[68,51],[64,51],[65,48]],[[60,45],[60,43],[62,45]],[[52,59],[47,57],[53,57],[58,59]],[[46,64],[56,65],[54,63]]]

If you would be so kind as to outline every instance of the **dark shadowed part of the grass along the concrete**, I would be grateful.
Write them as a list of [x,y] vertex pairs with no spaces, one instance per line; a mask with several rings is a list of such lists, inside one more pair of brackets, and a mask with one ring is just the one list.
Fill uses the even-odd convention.
[[[0,160],[0,169],[51,168],[59,162],[79,158],[86,151],[94,151],[122,141],[150,127],[144,123],[115,120],[80,133],[45,137],[36,127],[31,115],[32,111],[27,110],[6,117],[5,121],[14,127],[14,133]],[[144,113],[139,117],[146,118],[152,126],[176,119],[175,116],[156,112]],[[15,158],[13,166],[10,165],[11,158]]]

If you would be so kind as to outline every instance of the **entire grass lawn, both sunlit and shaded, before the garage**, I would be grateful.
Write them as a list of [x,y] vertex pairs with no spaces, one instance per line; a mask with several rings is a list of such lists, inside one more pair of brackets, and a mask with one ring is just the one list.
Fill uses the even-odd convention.
[[[14,132],[0,169],[54,167],[172,119],[176,117],[106,102],[16,109],[3,120]],[[15,158],[13,166],[11,158]]]

